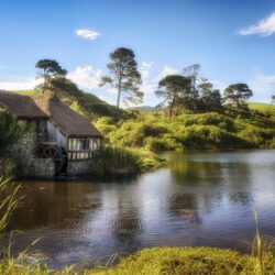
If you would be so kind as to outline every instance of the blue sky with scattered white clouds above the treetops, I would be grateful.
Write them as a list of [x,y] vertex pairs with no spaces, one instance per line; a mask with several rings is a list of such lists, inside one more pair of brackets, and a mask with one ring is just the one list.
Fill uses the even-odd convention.
[[56,59],[79,88],[116,102],[109,54],[134,51],[144,102],[162,77],[198,63],[221,91],[246,82],[251,101],[275,95],[274,0],[0,0],[0,89],[32,89],[35,63]]

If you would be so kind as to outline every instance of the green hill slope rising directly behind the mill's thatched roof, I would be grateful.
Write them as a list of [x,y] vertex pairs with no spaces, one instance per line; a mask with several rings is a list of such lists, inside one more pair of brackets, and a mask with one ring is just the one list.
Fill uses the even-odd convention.
[[[21,95],[35,95],[41,91],[19,90],[16,92]],[[101,100],[100,98],[90,92],[77,90],[74,92],[63,91],[56,94],[64,103],[70,106],[74,110],[80,113],[82,112],[84,116],[90,119],[103,116],[118,118],[123,116],[124,113],[123,110],[119,110],[117,107],[107,103],[106,101]]]

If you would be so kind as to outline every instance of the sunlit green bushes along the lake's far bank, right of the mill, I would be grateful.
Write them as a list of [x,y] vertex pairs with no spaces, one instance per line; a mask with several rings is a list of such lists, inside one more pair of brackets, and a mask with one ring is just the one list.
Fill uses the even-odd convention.
[[180,114],[172,120],[162,112],[135,119],[101,118],[96,127],[113,145],[151,152],[274,147],[275,121],[265,116],[231,118],[217,112]]

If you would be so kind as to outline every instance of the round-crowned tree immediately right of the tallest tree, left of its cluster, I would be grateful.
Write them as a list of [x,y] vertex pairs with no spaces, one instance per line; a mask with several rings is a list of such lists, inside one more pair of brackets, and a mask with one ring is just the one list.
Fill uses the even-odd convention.
[[182,75],[168,75],[158,82],[156,96],[164,98],[161,106],[168,105],[169,118],[175,107],[182,107],[190,91],[190,78]]

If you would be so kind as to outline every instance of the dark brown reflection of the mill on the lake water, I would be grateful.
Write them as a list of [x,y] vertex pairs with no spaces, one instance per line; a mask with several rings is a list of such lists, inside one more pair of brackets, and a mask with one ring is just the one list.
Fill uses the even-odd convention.
[[37,228],[72,228],[81,222],[87,213],[101,206],[101,197],[92,196],[98,186],[68,183],[24,184],[24,196],[12,216],[9,230],[30,230]]

